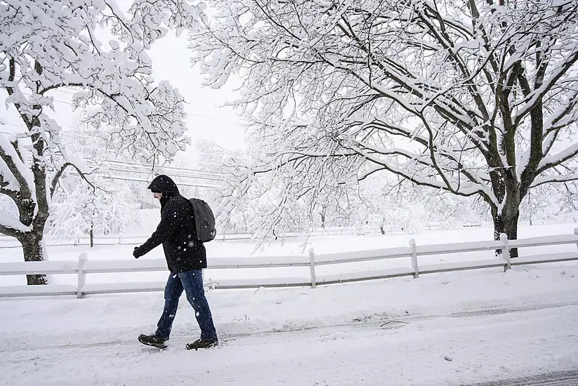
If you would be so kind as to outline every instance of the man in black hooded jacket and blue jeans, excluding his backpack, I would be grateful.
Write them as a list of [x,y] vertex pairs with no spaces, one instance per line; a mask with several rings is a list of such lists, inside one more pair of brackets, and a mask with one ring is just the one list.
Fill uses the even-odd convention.
[[166,347],[178,300],[185,291],[201,329],[201,337],[189,343],[187,350],[216,346],[217,333],[203,288],[202,269],[206,268],[206,251],[202,241],[197,240],[192,205],[179,194],[175,182],[166,175],[152,180],[148,189],[161,203],[161,221],[145,244],[134,248],[133,256],[140,258],[162,244],[171,274],[164,287],[164,309],[157,331],[150,335],[142,334],[138,340],[145,345]]

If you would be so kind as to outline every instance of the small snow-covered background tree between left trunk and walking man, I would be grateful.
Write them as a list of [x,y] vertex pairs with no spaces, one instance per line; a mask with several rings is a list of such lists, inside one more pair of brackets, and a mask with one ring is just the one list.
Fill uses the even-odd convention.
[[93,246],[95,235],[124,233],[138,225],[135,192],[143,182],[118,180],[110,173],[111,166],[122,168],[132,157],[119,152],[119,146],[109,137],[103,128],[85,124],[82,114],[61,132],[69,154],[87,161],[91,183],[77,173],[65,173],[58,180],[48,217],[51,239],[70,240],[88,234]]

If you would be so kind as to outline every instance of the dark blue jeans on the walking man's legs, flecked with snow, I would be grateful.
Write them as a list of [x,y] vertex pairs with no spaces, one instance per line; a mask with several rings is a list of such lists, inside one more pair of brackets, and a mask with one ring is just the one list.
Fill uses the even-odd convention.
[[171,272],[169,275],[164,287],[164,310],[157,324],[157,336],[169,339],[178,308],[178,299],[183,290],[187,295],[187,300],[192,305],[193,310],[195,310],[195,317],[197,317],[197,323],[199,328],[201,328],[201,339],[217,338],[209,302],[206,301],[204,295],[203,273],[200,269],[178,274]]

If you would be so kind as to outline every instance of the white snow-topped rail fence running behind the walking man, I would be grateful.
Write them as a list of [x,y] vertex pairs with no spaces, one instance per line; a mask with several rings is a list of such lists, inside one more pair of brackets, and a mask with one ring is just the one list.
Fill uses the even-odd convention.
[[[434,244],[417,246],[414,239],[409,246],[398,248],[383,248],[372,251],[354,251],[346,253],[327,253],[315,255],[310,248],[308,255],[291,255],[256,258],[211,258],[209,269],[247,269],[247,268],[278,268],[278,267],[309,267],[309,277],[277,277],[269,279],[225,279],[209,282],[211,288],[258,288],[311,286],[317,284],[336,284],[348,281],[363,281],[386,279],[392,277],[413,276],[438,272],[461,271],[465,269],[482,269],[503,267],[504,272],[512,265],[539,264],[544,262],[563,262],[578,260],[576,252],[548,253],[527,255],[510,260],[511,248],[553,246],[561,244],[576,244],[578,247],[578,228],[574,234],[558,236],[532,237],[529,239],[508,240],[506,234],[501,234],[499,241],[473,241],[454,244]],[[466,253],[476,251],[491,251],[500,249],[501,255],[488,260],[473,260],[464,262],[447,262],[434,265],[420,265],[419,257],[426,255],[443,255],[448,253]],[[25,274],[77,274],[77,286],[51,285],[46,286],[0,286],[0,297],[35,296],[35,295],[85,295],[100,293],[126,293],[162,291],[164,282],[145,283],[112,283],[86,284],[86,274],[116,273],[116,272],[155,272],[166,271],[164,259],[141,260],[88,260],[86,252],[79,255],[76,261],[41,261],[41,262],[3,262],[0,263],[0,275]],[[411,261],[411,267],[380,269],[369,272],[347,272],[341,274],[318,275],[315,267],[336,265],[348,262],[363,262],[368,260],[385,260],[406,258]]]

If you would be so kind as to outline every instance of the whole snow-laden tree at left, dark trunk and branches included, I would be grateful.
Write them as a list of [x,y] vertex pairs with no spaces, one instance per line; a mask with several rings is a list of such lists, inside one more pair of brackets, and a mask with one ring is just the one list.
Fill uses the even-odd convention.
[[[18,207],[18,218],[0,213],[0,232],[20,241],[26,261],[44,260],[43,232],[60,176],[68,167],[84,175],[51,119],[51,92],[76,90],[74,107],[91,111],[93,126],[113,127],[119,147],[170,159],[183,147],[183,98],[154,82],[147,50],[171,28],[195,29],[203,8],[135,0],[125,13],[112,0],[0,1],[0,89],[27,129],[0,134],[0,194]],[[46,283],[44,275],[27,281]]]

